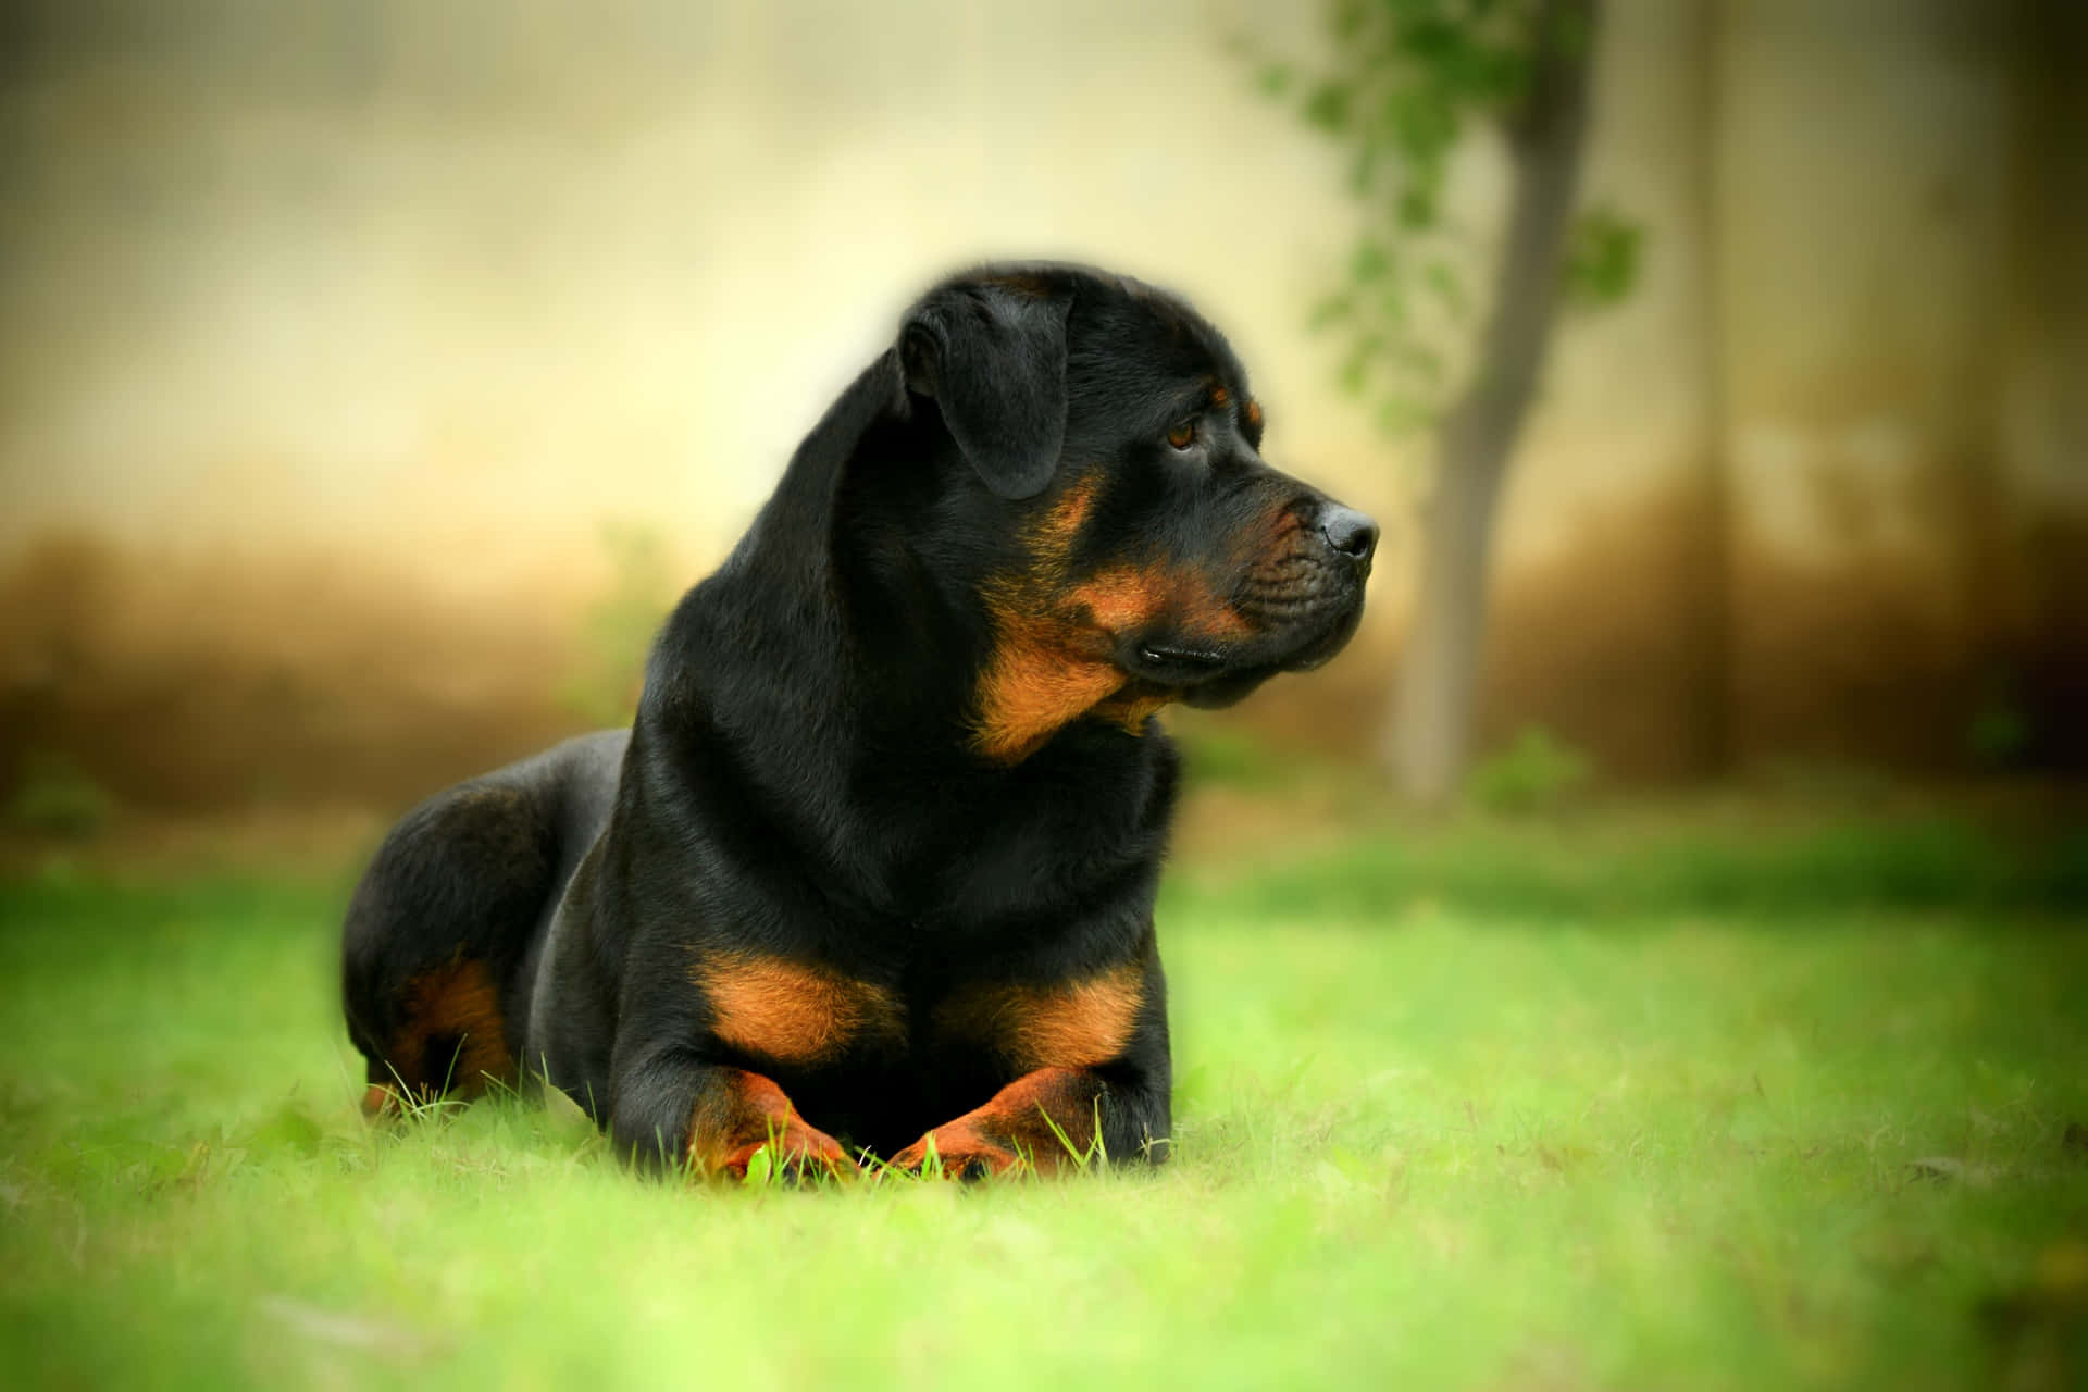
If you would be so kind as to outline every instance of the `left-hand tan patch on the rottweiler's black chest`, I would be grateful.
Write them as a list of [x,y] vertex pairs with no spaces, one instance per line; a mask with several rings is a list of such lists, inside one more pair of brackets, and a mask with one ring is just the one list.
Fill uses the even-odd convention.
[[812,1064],[856,1039],[906,1033],[892,991],[825,966],[727,952],[689,975],[710,1002],[710,1033],[760,1058]]

